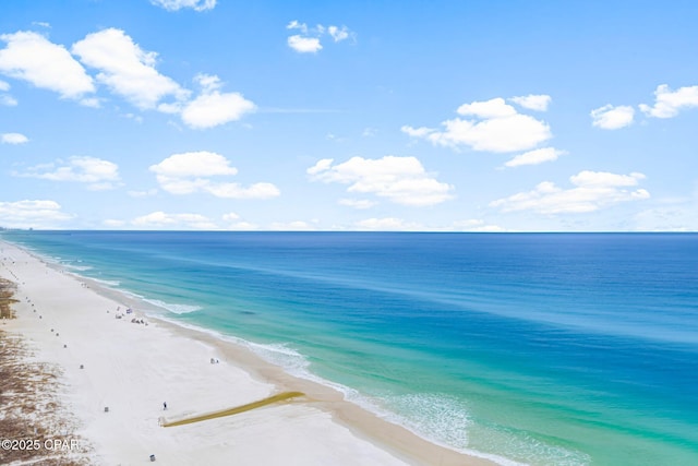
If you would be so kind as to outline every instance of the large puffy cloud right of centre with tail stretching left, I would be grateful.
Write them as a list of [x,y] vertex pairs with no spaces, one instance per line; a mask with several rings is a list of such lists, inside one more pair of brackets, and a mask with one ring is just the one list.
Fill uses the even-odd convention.
[[501,97],[464,104],[457,112],[470,118],[446,120],[442,131],[404,126],[402,132],[434,145],[498,153],[530,150],[552,138],[547,123],[519,113]]

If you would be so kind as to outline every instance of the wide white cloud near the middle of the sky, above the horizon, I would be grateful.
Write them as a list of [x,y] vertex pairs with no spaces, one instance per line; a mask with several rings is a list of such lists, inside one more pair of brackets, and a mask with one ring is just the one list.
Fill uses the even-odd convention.
[[350,193],[375,194],[401,205],[434,205],[453,198],[454,188],[438,182],[416,157],[352,157],[333,164],[332,158],[325,158],[306,171],[314,181],[350,184]]

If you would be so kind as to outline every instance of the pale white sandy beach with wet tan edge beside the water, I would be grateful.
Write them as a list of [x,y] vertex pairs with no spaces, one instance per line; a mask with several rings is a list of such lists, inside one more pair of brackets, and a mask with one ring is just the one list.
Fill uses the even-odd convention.
[[[428,442],[242,346],[145,314],[12,244],[0,249],[0,277],[17,285],[16,319],[0,330],[60,368],[63,409],[92,464],[493,464]],[[302,396],[165,427],[286,392]]]

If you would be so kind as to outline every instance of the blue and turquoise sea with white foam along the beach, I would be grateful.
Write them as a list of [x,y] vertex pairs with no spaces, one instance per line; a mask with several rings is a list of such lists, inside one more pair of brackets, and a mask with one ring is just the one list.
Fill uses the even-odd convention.
[[698,235],[2,237],[457,449],[698,464]]

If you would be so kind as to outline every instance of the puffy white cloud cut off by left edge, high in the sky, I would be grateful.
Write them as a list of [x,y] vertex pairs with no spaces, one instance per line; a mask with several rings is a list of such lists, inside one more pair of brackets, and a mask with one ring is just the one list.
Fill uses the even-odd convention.
[[92,77],[63,46],[33,32],[3,34],[0,39],[8,44],[0,50],[0,73],[57,92],[63,98],[80,99],[95,92]]

